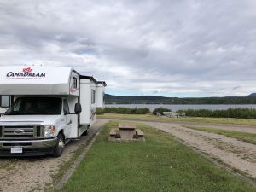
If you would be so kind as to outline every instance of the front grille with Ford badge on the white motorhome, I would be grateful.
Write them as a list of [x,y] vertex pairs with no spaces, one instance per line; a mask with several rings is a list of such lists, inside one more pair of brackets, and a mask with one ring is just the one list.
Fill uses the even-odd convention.
[[41,125],[2,125],[5,139],[31,139],[43,137],[44,126]]

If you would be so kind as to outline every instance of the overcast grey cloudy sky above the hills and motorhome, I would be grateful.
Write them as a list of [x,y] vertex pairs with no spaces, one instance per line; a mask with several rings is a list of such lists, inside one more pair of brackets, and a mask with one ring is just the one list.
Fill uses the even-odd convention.
[[113,95],[256,92],[255,0],[0,0],[0,65],[70,66]]

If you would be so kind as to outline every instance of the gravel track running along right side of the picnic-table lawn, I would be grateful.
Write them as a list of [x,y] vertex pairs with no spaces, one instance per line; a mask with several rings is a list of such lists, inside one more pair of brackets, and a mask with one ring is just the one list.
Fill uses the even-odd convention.
[[[182,140],[186,145],[196,148],[202,153],[212,157],[212,159],[221,160],[230,168],[240,170],[245,175],[256,178],[256,146],[251,143],[238,141],[235,138],[208,133],[206,131],[192,130],[180,124],[143,123],[171,133],[172,136]],[[192,125],[195,126],[195,123]],[[231,129],[230,125],[216,125],[215,128],[224,130]],[[236,126],[236,131],[245,131],[244,128],[243,126],[239,129],[239,127]]]

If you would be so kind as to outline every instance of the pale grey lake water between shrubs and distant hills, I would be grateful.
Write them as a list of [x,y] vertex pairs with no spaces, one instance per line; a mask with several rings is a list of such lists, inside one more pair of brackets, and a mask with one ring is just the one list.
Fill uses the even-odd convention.
[[164,104],[108,104],[105,105],[109,108],[149,108],[151,111],[154,108],[169,108],[172,111],[182,110],[182,109],[211,109],[211,110],[225,110],[228,108],[256,108],[256,104],[249,105],[164,105]]

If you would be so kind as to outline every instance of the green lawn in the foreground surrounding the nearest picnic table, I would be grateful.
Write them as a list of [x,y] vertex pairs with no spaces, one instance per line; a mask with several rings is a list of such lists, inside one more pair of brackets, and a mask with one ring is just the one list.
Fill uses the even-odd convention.
[[224,171],[172,136],[137,125],[146,142],[109,142],[109,122],[61,191],[253,192],[256,188]]

